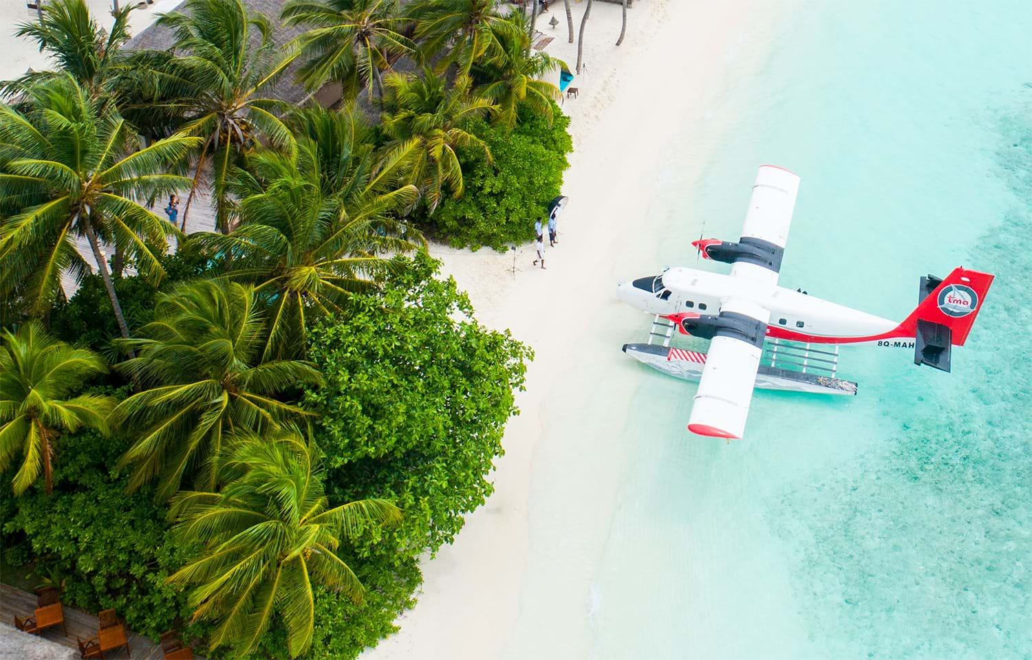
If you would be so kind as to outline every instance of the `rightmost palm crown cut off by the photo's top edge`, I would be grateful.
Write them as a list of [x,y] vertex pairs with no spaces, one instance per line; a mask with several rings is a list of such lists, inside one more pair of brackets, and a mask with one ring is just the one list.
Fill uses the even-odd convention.
[[477,60],[497,52],[498,30],[511,30],[512,24],[494,4],[495,0],[425,0],[409,5],[426,59],[447,50],[439,70],[454,63],[458,73],[466,75]]

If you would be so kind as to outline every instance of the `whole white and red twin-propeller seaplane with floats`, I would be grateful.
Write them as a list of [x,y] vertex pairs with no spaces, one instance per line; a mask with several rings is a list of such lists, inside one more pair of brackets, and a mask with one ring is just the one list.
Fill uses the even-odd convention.
[[[670,375],[698,381],[688,430],[740,439],[754,388],[856,395],[838,377],[839,345],[912,348],[914,364],[949,371],[950,348],[964,345],[993,275],[955,268],[945,278],[921,277],[917,306],[890,321],[778,286],[781,258],[800,177],[763,165],[738,241],[702,238],[691,244],[731,274],[668,268],[617,286],[617,297],[653,316],[647,343],[623,352]],[[680,334],[709,340],[706,353],[671,346]]]

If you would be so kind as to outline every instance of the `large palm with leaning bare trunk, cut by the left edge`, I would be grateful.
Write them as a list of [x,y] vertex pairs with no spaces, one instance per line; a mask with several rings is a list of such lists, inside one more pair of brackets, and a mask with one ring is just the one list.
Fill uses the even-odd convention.
[[184,186],[167,170],[199,140],[173,135],[134,151],[125,120],[70,76],[30,93],[24,112],[0,104],[0,198],[15,209],[0,225],[0,294],[20,288],[31,316],[46,314],[63,295],[63,272],[89,272],[75,248],[85,236],[128,337],[100,243],[114,243],[139,272],[160,279],[158,256],[175,229],[136,200]]

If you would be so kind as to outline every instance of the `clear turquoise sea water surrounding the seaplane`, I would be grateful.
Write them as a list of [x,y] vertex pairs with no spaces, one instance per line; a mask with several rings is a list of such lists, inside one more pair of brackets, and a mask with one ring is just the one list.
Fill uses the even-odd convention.
[[[922,274],[997,279],[953,373],[844,349],[858,397],[760,393],[730,446],[683,430],[694,386],[623,367],[641,380],[627,462],[584,560],[588,639],[553,631],[566,657],[1032,658],[1030,35],[1027,2],[811,0],[717,99],[736,119],[702,180],[671,174],[650,207],[673,237],[657,264],[683,263],[703,220],[737,237],[756,166],[775,163],[803,177],[783,285],[902,318]],[[674,141],[672,172],[689,152]],[[556,502],[531,504],[534,544]],[[537,554],[561,557],[554,543]],[[531,571],[546,563],[531,553]]]

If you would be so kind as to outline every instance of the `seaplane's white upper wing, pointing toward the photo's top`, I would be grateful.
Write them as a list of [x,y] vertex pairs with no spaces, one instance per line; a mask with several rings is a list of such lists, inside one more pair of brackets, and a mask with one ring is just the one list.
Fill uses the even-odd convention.
[[735,277],[776,285],[781,268],[781,255],[788,240],[792,212],[796,207],[800,178],[777,165],[761,165],[752,185],[749,210],[745,214],[740,242],[751,243],[770,253],[773,267],[755,260],[737,260],[731,268]]

